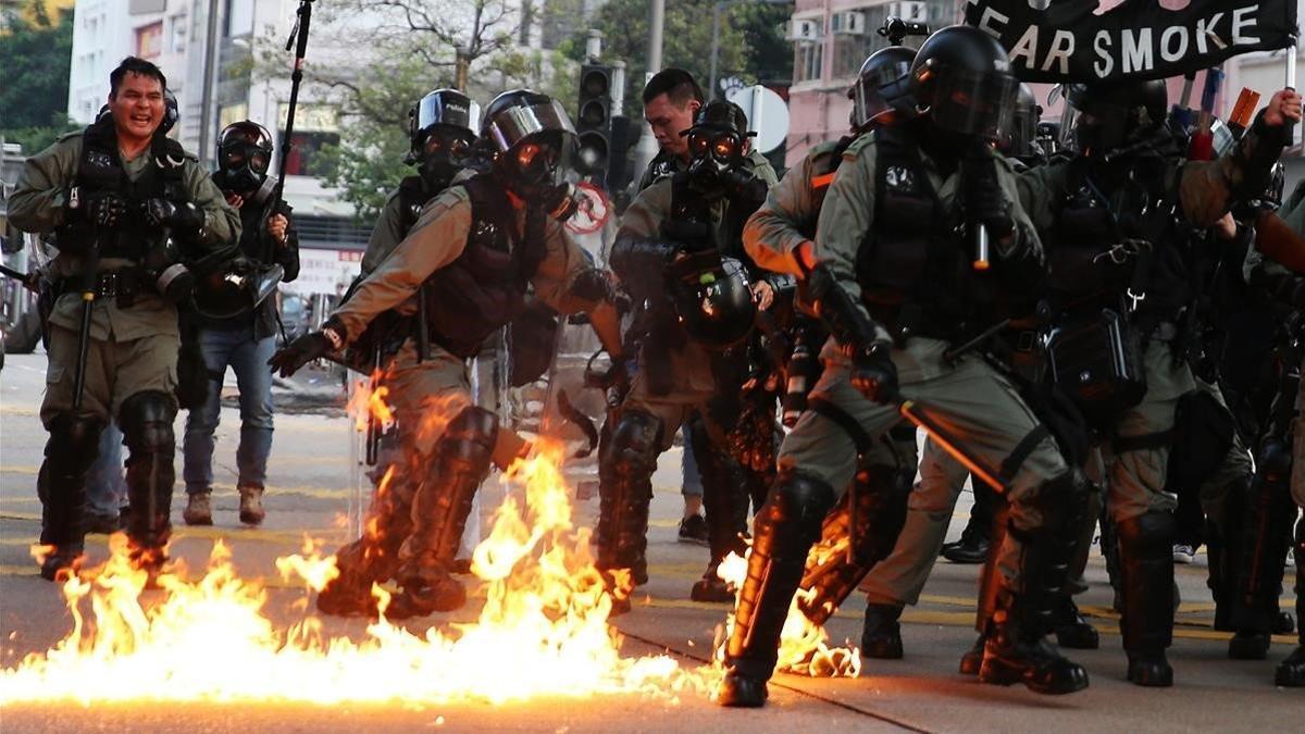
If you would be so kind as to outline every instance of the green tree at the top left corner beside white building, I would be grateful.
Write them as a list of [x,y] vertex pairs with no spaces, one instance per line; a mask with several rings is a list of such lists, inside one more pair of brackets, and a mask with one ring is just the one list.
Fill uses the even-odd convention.
[[76,128],[67,114],[73,14],[51,18],[43,3],[30,5],[26,13],[7,13],[0,27],[0,137],[22,144],[26,153]]

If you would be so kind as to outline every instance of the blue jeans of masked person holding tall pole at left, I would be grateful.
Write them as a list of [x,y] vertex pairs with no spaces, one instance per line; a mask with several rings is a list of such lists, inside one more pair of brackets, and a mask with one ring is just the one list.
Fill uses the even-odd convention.
[[253,325],[244,329],[204,329],[200,332],[204,363],[214,376],[204,407],[185,419],[187,494],[213,488],[213,432],[222,411],[222,380],[227,367],[236,374],[240,388],[240,447],[236,449],[238,487],[262,487],[271,453],[271,368],[268,360],[277,350],[275,337],[254,341]]

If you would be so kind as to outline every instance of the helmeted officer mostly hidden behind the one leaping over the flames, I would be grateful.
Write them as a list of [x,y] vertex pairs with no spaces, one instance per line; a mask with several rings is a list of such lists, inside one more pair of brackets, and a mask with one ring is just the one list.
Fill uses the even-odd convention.
[[[411,112],[408,161],[418,174],[406,176],[385,202],[363,255],[363,272],[350,289],[346,302],[361,282],[394,252],[422,217],[425,205],[442,193],[466,171],[476,141],[480,107],[455,89],[436,89],[425,94]],[[466,174],[462,174],[466,175]],[[364,336],[350,346],[350,358],[365,372],[381,370],[389,392],[385,401],[394,409],[399,448],[408,466],[395,468],[390,482],[378,491],[369,508],[367,533],[335,554],[341,575],[317,596],[317,609],[328,614],[365,614],[372,610],[373,582],[389,580],[398,568],[398,552],[412,532],[412,498],[422,483],[423,466],[431,457],[440,434],[422,431],[423,413],[432,396],[448,392],[448,364],[422,355],[425,337],[419,333],[416,312],[419,294],[389,313],[375,319]],[[380,351],[380,363],[376,363]],[[429,354],[431,347],[425,345]],[[422,355],[422,357],[419,357]]]

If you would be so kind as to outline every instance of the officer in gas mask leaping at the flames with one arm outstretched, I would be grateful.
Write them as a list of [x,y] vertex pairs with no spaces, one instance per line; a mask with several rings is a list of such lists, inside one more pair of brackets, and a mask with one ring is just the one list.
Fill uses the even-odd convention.
[[[512,90],[496,97],[482,128],[492,170],[431,200],[322,330],[295,340],[271,360],[288,375],[339,353],[378,316],[423,291],[431,346],[422,360],[432,366],[422,377],[429,392],[415,430],[438,439],[411,500],[412,530],[399,549],[401,593],[390,615],[449,611],[466,602],[450,569],[475,492],[491,462],[506,468],[530,449],[515,432],[500,430],[493,413],[472,405],[466,362],[521,311],[527,287],[562,313],[589,311],[604,346],[621,357],[607,274],[587,265],[560,222],[576,209],[573,189],[561,183],[574,135],[566,112],[548,95]],[[355,585],[360,581],[350,584],[355,593],[365,593]]]

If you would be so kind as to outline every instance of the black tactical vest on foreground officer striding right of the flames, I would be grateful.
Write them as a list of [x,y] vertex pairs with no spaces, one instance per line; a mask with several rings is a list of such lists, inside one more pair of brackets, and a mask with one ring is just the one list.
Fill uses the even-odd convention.
[[977,283],[955,231],[959,209],[938,199],[914,142],[893,128],[874,136],[874,226],[856,255],[863,299],[891,330],[960,336]]

